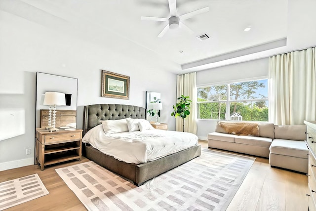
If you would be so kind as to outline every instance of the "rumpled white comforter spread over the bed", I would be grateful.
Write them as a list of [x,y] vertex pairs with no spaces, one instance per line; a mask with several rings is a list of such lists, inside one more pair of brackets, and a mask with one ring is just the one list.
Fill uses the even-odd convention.
[[141,164],[194,146],[198,138],[193,133],[159,129],[107,135],[98,125],[84,135],[82,142],[125,163]]

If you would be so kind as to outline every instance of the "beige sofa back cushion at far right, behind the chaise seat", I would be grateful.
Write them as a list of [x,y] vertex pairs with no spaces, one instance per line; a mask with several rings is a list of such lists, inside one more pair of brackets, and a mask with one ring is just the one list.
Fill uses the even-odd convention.
[[305,140],[306,126],[277,126],[275,125],[275,138],[288,140]]

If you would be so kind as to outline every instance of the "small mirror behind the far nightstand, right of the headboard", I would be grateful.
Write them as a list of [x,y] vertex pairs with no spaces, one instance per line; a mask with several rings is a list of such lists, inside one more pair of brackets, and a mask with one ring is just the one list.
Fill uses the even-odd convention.
[[153,91],[146,91],[146,109],[147,120],[159,124],[160,110],[162,110],[162,103],[160,93]]

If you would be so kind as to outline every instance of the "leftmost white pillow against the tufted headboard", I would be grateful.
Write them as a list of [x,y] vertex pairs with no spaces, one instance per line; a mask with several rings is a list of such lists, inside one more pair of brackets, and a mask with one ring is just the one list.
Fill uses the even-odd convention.
[[[127,119],[130,119],[127,118]],[[121,120],[100,120],[103,126],[103,130],[105,134],[113,134],[118,132],[127,132],[127,119],[121,119]]]

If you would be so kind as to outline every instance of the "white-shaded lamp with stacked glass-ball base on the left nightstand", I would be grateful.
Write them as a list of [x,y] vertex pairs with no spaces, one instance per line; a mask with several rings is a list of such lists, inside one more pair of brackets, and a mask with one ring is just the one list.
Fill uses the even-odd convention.
[[[56,106],[65,106],[66,105],[65,94],[60,93],[60,92],[46,91],[43,105],[49,106],[48,127],[46,127],[46,129],[48,129],[51,132],[58,131],[59,129],[55,128]],[[53,106],[53,112],[52,112],[52,106]],[[51,125],[51,123],[52,123],[52,125]]]

